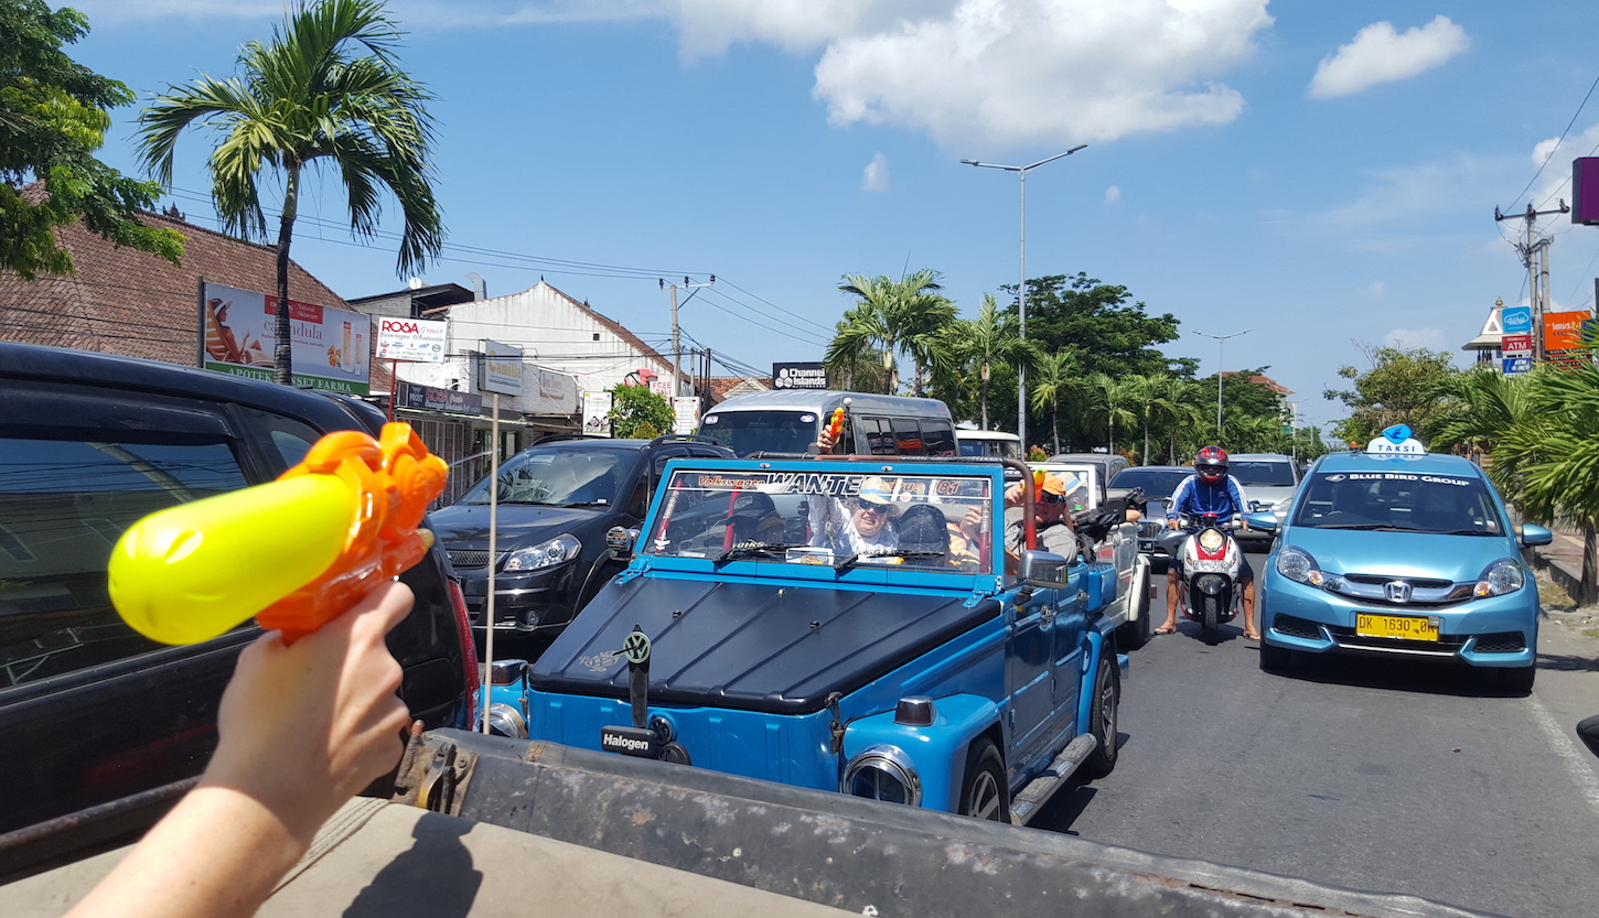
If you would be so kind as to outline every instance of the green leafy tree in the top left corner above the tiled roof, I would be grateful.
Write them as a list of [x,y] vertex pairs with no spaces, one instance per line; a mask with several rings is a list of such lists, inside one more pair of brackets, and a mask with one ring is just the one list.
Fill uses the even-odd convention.
[[[90,30],[77,10],[51,11],[42,0],[0,3],[0,270],[22,280],[74,272],[56,229],[83,221],[118,246],[177,264],[182,235],[142,226],[160,187],[123,176],[94,158],[110,128],[109,109],[133,93],[62,51]],[[19,189],[42,181],[45,195]]]

